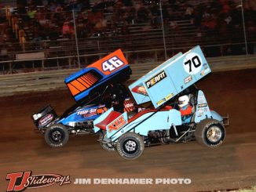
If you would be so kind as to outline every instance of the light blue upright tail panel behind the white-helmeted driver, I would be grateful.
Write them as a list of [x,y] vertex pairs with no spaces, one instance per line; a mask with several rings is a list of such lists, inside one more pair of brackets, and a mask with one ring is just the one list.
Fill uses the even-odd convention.
[[210,109],[207,103],[207,99],[205,98],[203,92],[199,90],[197,96],[197,105],[196,105],[196,117],[195,122],[198,123],[205,118],[211,118]]

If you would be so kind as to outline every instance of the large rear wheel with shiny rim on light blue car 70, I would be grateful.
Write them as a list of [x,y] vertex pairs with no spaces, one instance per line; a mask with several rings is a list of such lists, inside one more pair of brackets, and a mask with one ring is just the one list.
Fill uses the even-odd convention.
[[204,146],[218,147],[225,139],[225,127],[220,121],[207,118],[196,125],[195,136]]

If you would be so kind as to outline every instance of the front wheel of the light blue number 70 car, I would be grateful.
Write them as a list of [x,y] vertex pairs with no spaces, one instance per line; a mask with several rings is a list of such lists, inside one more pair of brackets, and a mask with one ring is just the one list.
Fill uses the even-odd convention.
[[117,141],[116,149],[122,158],[134,160],[143,153],[144,140],[135,132],[126,132]]

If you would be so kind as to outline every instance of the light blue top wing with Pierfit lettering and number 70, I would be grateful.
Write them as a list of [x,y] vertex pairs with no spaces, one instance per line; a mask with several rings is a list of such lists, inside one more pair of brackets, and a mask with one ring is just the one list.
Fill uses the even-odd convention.
[[210,73],[199,46],[178,53],[129,86],[137,104],[151,101],[155,108]]

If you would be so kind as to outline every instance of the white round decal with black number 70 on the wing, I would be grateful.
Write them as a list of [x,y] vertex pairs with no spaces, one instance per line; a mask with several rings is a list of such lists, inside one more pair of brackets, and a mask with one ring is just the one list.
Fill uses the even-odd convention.
[[202,68],[202,59],[196,53],[188,53],[185,56],[183,67],[188,74],[197,74]]

